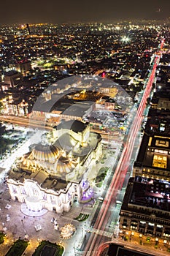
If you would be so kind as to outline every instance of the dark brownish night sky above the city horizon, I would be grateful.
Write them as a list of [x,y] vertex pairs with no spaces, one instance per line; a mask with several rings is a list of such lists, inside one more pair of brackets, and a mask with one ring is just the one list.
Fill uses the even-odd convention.
[[2,0],[0,7],[0,25],[169,17],[170,0]]

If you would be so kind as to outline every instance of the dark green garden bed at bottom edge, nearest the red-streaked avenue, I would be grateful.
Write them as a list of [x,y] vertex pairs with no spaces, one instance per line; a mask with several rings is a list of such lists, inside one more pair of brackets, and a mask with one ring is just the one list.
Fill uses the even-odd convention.
[[59,244],[53,244],[49,241],[42,241],[36,248],[33,256],[61,256],[63,255],[64,248]]

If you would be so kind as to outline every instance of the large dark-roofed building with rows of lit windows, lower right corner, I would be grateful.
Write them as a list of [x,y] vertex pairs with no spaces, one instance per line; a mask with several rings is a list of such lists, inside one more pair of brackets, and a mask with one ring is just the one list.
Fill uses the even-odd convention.
[[170,183],[130,178],[120,209],[120,230],[170,238]]

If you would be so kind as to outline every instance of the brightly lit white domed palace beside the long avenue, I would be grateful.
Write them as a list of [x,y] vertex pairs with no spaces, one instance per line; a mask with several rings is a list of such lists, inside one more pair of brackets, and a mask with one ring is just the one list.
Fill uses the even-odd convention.
[[87,203],[93,198],[88,176],[101,154],[101,135],[90,132],[89,124],[63,121],[12,165],[7,177],[12,200],[30,211],[58,213],[69,211],[75,199]]

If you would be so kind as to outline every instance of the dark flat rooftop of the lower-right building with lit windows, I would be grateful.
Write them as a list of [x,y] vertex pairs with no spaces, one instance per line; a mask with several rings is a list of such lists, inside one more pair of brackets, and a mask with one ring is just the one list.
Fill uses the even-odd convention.
[[167,219],[170,211],[169,194],[169,182],[136,176],[128,181],[121,210],[149,217],[154,214],[155,217]]

